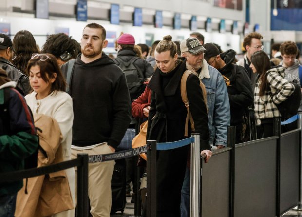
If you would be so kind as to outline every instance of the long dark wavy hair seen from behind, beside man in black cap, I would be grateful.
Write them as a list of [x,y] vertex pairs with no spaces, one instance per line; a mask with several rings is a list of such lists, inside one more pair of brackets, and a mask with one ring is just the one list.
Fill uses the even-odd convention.
[[33,53],[38,53],[34,36],[27,30],[17,32],[13,39],[13,48],[16,54],[13,64],[28,76],[26,71],[27,62]]

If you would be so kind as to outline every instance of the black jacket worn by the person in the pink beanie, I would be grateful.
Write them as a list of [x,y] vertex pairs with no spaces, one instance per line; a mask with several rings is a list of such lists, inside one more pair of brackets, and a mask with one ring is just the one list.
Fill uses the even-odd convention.
[[[124,48],[117,53],[117,57],[124,62],[129,62],[133,57],[136,57],[136,53],[132,49]],[[144,82],[154,72],[151,64],[147,62],[145,59],[137,59],[133,64],[135,65],[136,68],[139,68],[141,70],[141,72],[144,75],[144,78],[142,79],[141,88],[139,92],[130,95],[132,101],[134,99],[137,99],[144,92],[146,87],[144,85]]]

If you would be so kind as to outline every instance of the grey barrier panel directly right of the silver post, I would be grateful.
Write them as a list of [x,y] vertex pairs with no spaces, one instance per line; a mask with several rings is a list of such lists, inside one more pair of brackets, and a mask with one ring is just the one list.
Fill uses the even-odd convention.
[[230,204],[230,161],[232,148],[213,153],[208,163],[201,162],[201,215],[228,217]]

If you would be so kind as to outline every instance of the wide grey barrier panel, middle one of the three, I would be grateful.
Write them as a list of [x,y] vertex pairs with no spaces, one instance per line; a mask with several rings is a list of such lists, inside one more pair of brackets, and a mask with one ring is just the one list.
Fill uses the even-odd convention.
[[278,139],[236,145],[234,217],[276,216]]

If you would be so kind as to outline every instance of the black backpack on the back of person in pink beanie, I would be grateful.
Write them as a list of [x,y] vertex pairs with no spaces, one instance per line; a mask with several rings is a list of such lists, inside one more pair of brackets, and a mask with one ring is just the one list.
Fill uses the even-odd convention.
[[142,92],[143,83],[145,77],[141,69],[135,66],[134,62],[140,59],[139,57],[133,57],[128,62],[124,62],[121,58],[116,57],[113,61],[118,65],[125,73],[127,85],[130,95]]

